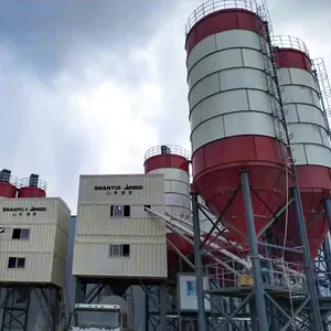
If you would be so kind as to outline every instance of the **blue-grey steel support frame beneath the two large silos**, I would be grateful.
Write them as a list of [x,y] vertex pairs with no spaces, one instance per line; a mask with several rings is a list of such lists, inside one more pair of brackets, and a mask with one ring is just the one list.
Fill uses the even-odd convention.
[[[331,297],[322,296],[318,292],[317,279],[321,277],[319,274],[321,269],[314,265],[314,261],[310,260],[308,238],[306,233],[306,224],[302,218],[302,206],[300,204],[300,199],[298,199],[298,190],[293,189],[293,203],[297,211],[297,222],[299,227],[299,235],[302,243],[301,254],[303,256],[303,271],[305,278],[307,281],[307,287],[301,289],[291,289],[291,286],[284,287],[274,287],[267,285],[261,279],[260,270],[260,257],[257,250],[257,245],[261,244],[257,242],[257,236],[254,229],[254,218],[253,218],[253,209],[250,201],[250,186],[248,172],[246,170],[238,173],[241,177],[241,190],[243,192],[244,205],[246,212],[246,221],[248,231],[248,242],[250,248],[250,259],[252,259],[252,274],[254,284],[253,286],[247,287],[231,287],[222,288],[220,285],[215,285],[213,289],[203,290],[201,288],[203,271],[207,266],[197,265],[195,266],[195,273],[197,277],[197,298],[200,302],[200,313],[199,313],[199,331],[204,330],[292,330],[296,324],[299,330],[329,330],[331,323],[330,313],[331,313]],[[328,217],[329,226],[331,229],[331,200],[325,200],[325,212],[324,216]],[[203,256],[203,252],[206,249],[207,239],[204,243],[201,243],[200,236],[200,222],[199,222],[199,211],[203,210],[203,206],[197,203],[197,193],[192,194],[192,204],[193,204],[193,222],[194,222],[194,237],[195,237],[195,260],[199,263]],[[281,209],[282,211],[285,207]],[[280,215],[279,215],[280,216]],[[209,233],[209,236],[212,235],[214,229],[217,227],[212,220],[213,224],[212,229]],[[220,222],[220,221],[218,221]],[[220,231],[218,231],[220,232]],[[207,237],[209,237],[207,236]],[[277,245],[268,245],[277,248]],[[331,279],[331,252],[329,241],[327,239],[323,244],[324,263],[325,266],[322,268],[325,278]],[[197,248],[196,248],[197,247]],[[278,246],[279,249],[282,247]],[[298,250],[297,250],[298,252]],[[199,286],[200,284],[200,286]],[[330,285],[329,285],[330,290]],[[330,290],[331,293],[331,290]],[[207,319],[205,310],[203,309],[205,296],[211,296],[211,301],[213,298],[221,298],[224,302],[231,306],[231,300],[235,303],[232,305],[231,309],[220,310],[217,307],[214,307],[216,311],[217,319],[220,314],[223,317],[223,321],[218,321],[214,324],[207,325]],[[213,301],[212,301],[213,302]],[[318,316],[313,311],[314,307],[318,307]],[[228,312],[227,312],[228,311]],[[250,321],[244,321],[238,319],[250,317]],[[236,319],[237,318],[237,319]],[[216,320],[217,320],[216,319]],[[322,322],[323,321],[323,322]],[[225,329],[226,325],[232,325],[233,329]]]

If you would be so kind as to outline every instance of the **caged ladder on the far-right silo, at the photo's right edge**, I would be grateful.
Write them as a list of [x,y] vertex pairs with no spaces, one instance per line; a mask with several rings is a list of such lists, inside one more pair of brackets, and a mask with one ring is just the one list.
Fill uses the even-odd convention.
[[319,57],[312,61],[313,76],[319,92],[323,117],[329,136],[331,120],[331,87],[328,78],[324,60]]

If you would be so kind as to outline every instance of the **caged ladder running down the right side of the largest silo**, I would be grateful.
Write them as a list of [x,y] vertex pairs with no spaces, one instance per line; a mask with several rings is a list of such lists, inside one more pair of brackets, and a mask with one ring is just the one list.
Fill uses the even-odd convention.
[[[273,25],[270,23],[269,11],[267,9],[265,0],[261,0],[261,4],[257,6],[257,26],[260,32],[259,45],[263,53],[264,72],[266,76],[267,90],[269,94],[271,115],[274,118],[274,126],[276,138],[279,141],[279,153],[282,160],[288,166],[293,166],[295,160],[288,151],[291,150],[290,140],[292,135],[287,130],[286,124],[286,110],[282,107],[282,88],[278,82],[278,64],[273,51],[271,36]],[[261,24],[261,22],[263,24]],[[265,33],[266,32],[266,33]],[[261,35],[266,35],[261,38]],[[281,143],[282,142],[282,143]]]

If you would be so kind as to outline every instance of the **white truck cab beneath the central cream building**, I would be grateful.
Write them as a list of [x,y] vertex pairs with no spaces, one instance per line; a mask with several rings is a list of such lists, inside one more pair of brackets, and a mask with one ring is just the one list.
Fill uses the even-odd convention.
[[127,312],[119,305],[76,303],[71,331],[127,331]]

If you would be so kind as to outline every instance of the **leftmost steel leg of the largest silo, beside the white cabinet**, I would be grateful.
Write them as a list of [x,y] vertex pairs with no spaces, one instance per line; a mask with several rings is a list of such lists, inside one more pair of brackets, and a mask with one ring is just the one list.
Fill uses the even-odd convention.
[[194,234],[194,264],[196,275],[196,295],[197,295],[197,331],[206,331],[206,318],[204,309],[204,289],[203,289],[203,265],[200,249],[200,220],[197,194],[192,194],[193,212],[193,234]]

